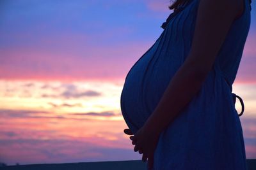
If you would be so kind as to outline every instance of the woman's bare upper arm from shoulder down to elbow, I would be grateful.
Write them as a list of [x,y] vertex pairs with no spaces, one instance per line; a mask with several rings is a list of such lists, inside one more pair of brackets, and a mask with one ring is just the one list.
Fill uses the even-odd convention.
[[237,15],[237,1],[200,0],[195,32],[186,64],[207,73]]

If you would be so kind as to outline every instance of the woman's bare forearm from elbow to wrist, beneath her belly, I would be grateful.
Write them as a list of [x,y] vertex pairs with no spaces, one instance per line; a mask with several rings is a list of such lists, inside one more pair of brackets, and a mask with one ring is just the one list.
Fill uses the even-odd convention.
[[207,72],[199,72],[189,64],[182,65],[168,84],[145,126],[152,131],[162,132],[200,90],[206,75]]

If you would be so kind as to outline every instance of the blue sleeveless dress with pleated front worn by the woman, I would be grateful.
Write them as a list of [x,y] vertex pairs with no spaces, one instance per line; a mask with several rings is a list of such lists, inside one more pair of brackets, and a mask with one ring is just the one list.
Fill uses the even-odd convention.
[[[189,54],[199,1],[189,1],[168,17],[159,38],[125,78],[121,111],[134,134],[154,111]],[[243,100],[232,93],[232,84],[250,29],[250,8],[250,0],[244,0],[243,15],[232,23],[201,89],[161,132],[154,170],[247,169],[243,130],[235,108],[236,97],[242,106]]]

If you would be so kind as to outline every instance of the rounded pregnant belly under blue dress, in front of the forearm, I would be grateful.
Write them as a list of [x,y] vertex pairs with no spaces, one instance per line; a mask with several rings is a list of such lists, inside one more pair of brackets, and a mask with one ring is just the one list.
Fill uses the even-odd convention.
[[[154,49],[154,48],[152,48]],[[156,108],[178,66],[151,50],[130,69],[121,94],[124,120],[136,133]]]

